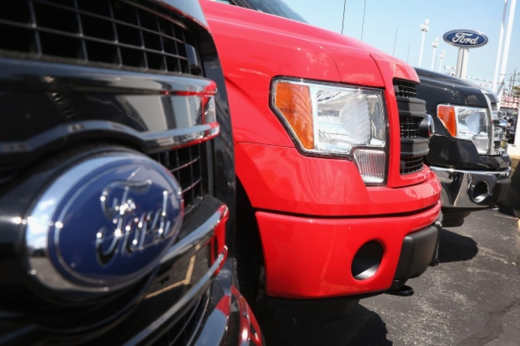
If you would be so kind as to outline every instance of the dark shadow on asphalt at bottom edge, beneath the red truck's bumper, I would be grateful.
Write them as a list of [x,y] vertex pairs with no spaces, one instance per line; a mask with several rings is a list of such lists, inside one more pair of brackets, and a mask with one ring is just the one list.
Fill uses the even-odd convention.
[[[300,324],[299,326],[297,324]],[[269,320],[261,324],[267,346],[387,346],[388,330],[381,317],[357,304],[350,312],[322,323]]]

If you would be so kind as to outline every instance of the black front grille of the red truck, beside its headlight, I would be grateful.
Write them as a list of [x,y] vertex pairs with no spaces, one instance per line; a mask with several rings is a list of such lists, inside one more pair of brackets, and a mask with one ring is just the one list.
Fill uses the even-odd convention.
[[[400,157],[400,174],[410,174],[423,170],[423,156],[415,156],[413,153],[404,153],[404,140],[410,144],[415,139],[419,139],[419,124],[424,118],[425,113],[418,113],[412,110],[412,104],[415,104],[415,84],[406,80],[394,79],[394,92],[396,94],[397,106],[399,109],[399,126],[401,135],[401,157]],[[424,108],[425,110],[425,108]],[[420,140],[420,139],[419,139]],[[412,148],[414,145],[412,143]]]

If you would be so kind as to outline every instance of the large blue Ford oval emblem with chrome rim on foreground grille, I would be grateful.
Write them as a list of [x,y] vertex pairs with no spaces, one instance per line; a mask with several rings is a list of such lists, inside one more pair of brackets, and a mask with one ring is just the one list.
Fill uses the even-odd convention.
[[158,265],[182,218],[181,188],[162,165],[137,153],[91,156],[35,202],[29,271],[51,289],[110,292]]

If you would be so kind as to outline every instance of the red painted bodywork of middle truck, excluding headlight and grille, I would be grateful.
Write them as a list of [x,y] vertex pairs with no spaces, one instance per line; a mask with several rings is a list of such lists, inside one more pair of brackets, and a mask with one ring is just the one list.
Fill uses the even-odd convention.
[[[267,293],[317,298],[389,288],[404,237],[431,225],[440,212],[440,184],[427,167],[399,174],[393,79],[418,81],[417,74],[345,35],[237,6],[201,5],[224,67],[237,176],[253,207],[262,210],[256,217]],[[271,82],[279,76],[384,90],[386,186],[367,187],[347,159],[300,154],[269,108]],[[383,262],[372,278],[357,281],[350,264],[370,240],[383,245]]]

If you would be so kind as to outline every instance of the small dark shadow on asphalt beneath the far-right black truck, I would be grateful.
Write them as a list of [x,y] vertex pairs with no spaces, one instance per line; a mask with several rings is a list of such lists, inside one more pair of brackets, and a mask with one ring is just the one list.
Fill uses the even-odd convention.
[[441,229],[439,262],[467,261],[478,253],[477,243],[470,237],[461,236],[446,228]]

